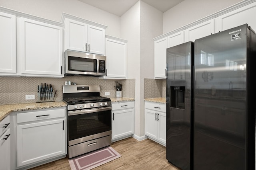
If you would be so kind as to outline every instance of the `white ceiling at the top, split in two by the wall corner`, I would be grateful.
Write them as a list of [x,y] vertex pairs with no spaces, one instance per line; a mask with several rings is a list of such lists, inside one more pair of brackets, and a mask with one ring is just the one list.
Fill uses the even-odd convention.
[[[79,0],[111,14],[122,16],[139,0]],[[166,12],[173,6],[176,6],[183,0],[142,0],[143,2],[153,6],[161,12]]]

